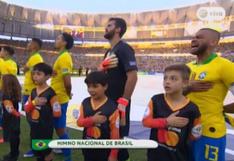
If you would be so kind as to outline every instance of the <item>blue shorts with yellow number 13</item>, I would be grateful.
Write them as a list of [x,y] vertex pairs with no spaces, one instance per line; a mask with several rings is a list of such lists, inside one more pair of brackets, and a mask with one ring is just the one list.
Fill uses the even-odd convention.
[[192,143],[193,161],[225,161],[226,135],[221,138],[202,136]]

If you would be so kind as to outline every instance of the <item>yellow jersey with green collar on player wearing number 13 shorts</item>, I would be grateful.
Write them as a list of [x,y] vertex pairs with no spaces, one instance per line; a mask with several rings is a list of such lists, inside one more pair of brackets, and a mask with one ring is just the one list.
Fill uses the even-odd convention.
[[234,64],[227,59],[212,54],[203,64],[189,63],[195,80],[210,81],[213,87],[205,92],[192,92],[188,95],[201,112],[202,135],[220,138],[226,134],[223,102],[234,83]]

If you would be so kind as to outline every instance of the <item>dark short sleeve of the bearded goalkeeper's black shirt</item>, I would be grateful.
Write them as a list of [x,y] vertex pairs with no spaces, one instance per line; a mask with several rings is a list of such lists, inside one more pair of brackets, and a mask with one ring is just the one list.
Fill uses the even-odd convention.
[[137,62],[134,50],[127,44],[123,44],[118,54],[119,62],[123,64],[126,72],[137,70]]

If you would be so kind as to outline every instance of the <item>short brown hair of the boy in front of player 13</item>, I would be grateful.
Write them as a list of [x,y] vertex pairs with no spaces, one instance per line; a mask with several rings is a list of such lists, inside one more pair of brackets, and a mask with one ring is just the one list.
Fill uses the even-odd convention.
[[174,65],[167,66],[164,69],[164,73],[168,72],[168,71],[178,71],[178,72],[180,72],[183,80],[189,80],[190,73],[191,73],[190,68],[185,64],[174,64]]

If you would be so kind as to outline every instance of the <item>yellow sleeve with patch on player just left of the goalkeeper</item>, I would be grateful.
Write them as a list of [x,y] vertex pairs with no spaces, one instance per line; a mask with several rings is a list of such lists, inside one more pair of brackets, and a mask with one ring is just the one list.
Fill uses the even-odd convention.
[[65,55],[60,59],[60,72],[62,75],[67,75],[72,73],[72,58],[69,54]]

